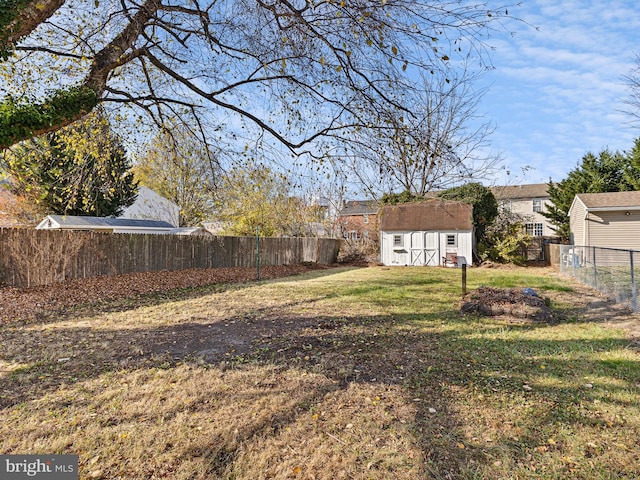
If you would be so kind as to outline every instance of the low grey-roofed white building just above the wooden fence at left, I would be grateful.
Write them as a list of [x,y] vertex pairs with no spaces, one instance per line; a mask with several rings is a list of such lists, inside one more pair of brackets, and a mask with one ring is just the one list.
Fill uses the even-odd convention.
[[36,229],[85,230],[105,233],[172,234],[174,233],[173,231],[176,230],[176,227],[163,220],[49,215],[40,222]]

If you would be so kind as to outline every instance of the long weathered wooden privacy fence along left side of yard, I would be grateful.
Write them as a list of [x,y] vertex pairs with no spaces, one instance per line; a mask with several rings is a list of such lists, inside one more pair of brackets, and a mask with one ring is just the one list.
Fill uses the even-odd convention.
[[[339,240],[260,238],[260,264],[330,264]],[[257,267],[254,237],[0,229],[0,285],[186,268]]]

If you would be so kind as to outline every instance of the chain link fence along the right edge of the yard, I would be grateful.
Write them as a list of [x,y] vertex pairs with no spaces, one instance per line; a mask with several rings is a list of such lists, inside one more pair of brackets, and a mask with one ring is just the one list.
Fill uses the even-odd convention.
[[560,272],[639,311],[640,251],[562,245]]

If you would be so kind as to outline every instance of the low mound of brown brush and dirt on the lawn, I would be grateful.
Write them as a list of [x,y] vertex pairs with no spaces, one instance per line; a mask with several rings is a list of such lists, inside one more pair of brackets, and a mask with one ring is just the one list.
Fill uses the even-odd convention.
[[480,287],[462,301],[462,313],[509,316],[518,320],[553,322],[550,301],[531,289]]

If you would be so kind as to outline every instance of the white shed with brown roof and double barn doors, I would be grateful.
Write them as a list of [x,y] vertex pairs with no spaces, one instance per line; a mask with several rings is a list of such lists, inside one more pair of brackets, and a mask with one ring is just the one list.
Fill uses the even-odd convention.
[[470,265],[473,206],[431,200],[382,208],[380,251],[384,265]]

